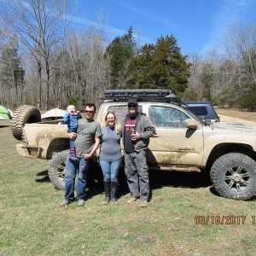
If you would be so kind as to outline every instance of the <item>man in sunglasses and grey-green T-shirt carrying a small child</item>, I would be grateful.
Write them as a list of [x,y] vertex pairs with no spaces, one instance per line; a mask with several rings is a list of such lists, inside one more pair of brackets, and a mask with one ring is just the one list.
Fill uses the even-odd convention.
[[85,119],[79,119],[77,133],[68,133],[70,139],[75,140],[76,160],[67,156],[65,169],[65,201],[61,207],[67,207],[74,201],[74,183],[78,173],[77,201],[79,207],[84,206],[86,176],[90,158],[96,153],[100,145],[101,125],[93,118],[96,112],[94,103],[85,106]]

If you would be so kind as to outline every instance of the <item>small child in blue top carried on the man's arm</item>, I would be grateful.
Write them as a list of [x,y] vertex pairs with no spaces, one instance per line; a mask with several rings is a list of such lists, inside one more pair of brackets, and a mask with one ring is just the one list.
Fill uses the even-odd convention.
[[[75,106],[67,106],[67,113],[64,114],[64,123],[67,124],[67,132],[77,132],[79,119],[82,116],[79,111],[76,111]],[[70,139],[70,151],[69,158],[72,160],[77,160],[76,158],[76,148],[75,139]]]

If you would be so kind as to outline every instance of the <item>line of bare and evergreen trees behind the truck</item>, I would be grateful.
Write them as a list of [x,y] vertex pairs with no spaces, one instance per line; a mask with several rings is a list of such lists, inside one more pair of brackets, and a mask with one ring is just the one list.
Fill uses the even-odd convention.
[[15,109],[102,102],[104,90],[169,89],[184,100],[256,109],[256,24],[230,26],[221,48],[182,55],[174,35],[139,44],[132,27],[107,43],[98,26],[74,30],[72,2],[1,4],[0,99]]

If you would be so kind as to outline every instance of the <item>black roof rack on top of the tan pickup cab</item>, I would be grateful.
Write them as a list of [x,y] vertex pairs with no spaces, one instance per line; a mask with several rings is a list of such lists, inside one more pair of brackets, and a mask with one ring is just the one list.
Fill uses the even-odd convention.
[[138,102],[180,102],[172,90],[106,90],[104,96],[108,102],[128,102],[129,98],[137,98]]

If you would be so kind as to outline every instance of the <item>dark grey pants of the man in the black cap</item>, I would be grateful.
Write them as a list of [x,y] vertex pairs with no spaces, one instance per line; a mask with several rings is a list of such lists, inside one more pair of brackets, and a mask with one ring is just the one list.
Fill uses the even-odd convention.
[[149,180],[145,150],[125,153],[125,175],[131,196],[137,198],[140,191],[141,200],[147,201],[149,197]]

